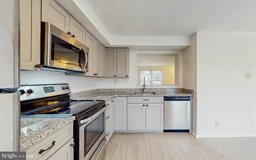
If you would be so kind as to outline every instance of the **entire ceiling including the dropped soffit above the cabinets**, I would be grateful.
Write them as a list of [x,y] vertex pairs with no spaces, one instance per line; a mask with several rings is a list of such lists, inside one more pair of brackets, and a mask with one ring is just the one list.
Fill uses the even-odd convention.
[[197,31],[256,31],[256,0],[55,1],[105,47],[130,51],[183,51],[180,37]]

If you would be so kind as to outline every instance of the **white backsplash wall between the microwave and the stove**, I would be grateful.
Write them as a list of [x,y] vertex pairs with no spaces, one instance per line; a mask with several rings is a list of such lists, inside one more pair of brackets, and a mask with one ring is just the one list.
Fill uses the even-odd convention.
[[82,76],[65,76],[61,72],[21,71],[20,84],[57,84],[68,83],[72,93],[98,88],[98,78]]

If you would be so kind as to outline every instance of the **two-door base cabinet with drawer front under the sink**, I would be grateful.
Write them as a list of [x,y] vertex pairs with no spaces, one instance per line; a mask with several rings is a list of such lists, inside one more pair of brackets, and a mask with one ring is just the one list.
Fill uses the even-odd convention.
[[127,130],[163,130],[163,97],[128,97]]

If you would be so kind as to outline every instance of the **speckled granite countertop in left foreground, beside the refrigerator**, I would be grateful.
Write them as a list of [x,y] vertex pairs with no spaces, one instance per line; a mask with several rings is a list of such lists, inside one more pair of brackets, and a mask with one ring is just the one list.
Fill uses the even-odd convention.
[[20,151],[74,120],[75,116],[68,118],[21,118]]

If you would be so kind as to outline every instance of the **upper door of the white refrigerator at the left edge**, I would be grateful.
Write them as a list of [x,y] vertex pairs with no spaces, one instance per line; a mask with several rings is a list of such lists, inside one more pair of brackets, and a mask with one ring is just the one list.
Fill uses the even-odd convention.
[[19,1],[1,0],[0,89],[20,87]]

